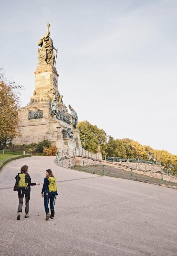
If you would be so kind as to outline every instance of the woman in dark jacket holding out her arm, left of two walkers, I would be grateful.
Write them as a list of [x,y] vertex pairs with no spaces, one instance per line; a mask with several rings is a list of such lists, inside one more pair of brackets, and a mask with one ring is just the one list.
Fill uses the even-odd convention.
[[23,198],[25,195],[25,218],[29,217],[29,200],[30,200],[30,186],[36,186],[40,185],[41,183],[31,183],[31,177],[28,174],[28,166],[23,165],[21,167],[21,172],[17,174],[15,177],[16,183],[14,186],[14,191],[18,191],[18,199],[19,199],[19,205],[18,205],[18,211],[17,211],[17,220],[20,220],[21,213],[22,213],[22,207],[23,207]]

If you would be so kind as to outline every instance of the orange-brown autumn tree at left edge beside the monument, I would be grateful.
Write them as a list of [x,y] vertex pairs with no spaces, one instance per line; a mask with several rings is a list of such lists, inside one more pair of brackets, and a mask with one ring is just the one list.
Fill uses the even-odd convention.
[[20,106],[21,85],[6,82],[0,69],[0,150],[3,149],[12,138],[19,135],[18,107]]

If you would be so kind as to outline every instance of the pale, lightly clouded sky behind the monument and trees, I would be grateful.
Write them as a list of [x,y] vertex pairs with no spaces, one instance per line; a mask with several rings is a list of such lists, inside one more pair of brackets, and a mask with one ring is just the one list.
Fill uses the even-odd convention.
[[27,105],[49,22],[58,89],[79,121],[177,154],[176,13],[175,0],[6,0],[0,66]]

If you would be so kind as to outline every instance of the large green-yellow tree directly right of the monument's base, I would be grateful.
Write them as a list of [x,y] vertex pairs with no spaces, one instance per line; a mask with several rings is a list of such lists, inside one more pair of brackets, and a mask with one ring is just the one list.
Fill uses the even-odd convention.
[[106,132],[96,125],[91,125],[88,121],[78,122],[77,127],[80,130],[82,147],[85,150],[97,153],[98,145],[100,144],[101,153],[105,155],[107,141]]

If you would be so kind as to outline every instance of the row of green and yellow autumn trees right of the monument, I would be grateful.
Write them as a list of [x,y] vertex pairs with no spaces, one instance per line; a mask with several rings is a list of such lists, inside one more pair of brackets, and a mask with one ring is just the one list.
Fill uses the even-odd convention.
[[153,149],[150,146],[141,145],[131,139],[114,139],[106,134],[103,129],[91,125],[88,121],[78,123],[82,147],[93,153],[98,152],[98,144],[102,155],[119,158],[132,158],[150,161],[160,161],[169,171],[177,173],[177,155],[172,155],[166,150]]

